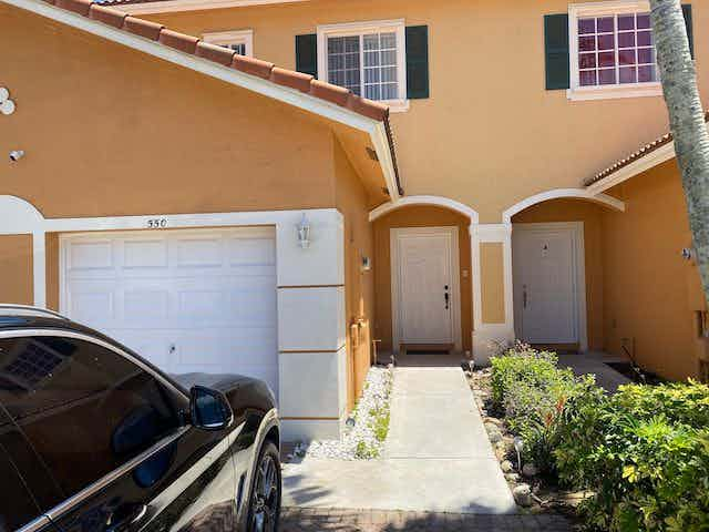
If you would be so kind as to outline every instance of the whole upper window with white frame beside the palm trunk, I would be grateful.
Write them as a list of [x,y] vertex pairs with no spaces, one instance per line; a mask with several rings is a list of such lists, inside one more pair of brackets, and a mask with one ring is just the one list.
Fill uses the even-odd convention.
[[661,94],[647,2],[572,4],[568,20],[572,99]]

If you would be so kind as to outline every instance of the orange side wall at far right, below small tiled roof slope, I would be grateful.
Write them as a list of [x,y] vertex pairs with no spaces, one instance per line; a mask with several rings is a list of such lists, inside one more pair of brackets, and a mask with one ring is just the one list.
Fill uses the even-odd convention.
[[695,310],[705,303],[696,267],[681,257],[691,234],[676,162],[612,192],[627,211],[603,218],[606,349],[620,354],[629,338],[640,366],[671,379],[695,376]]

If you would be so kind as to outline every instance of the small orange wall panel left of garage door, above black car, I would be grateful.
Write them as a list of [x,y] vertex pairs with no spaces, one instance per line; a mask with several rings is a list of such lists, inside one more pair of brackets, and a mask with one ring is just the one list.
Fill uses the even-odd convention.
[[0,301],[32,305],[32,235],[0,236]]

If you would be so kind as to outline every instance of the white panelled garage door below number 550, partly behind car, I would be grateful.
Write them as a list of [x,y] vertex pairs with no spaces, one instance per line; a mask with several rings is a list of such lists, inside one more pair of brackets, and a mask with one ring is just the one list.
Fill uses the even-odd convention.
[[273,228],[62,237],[61,309],[172,374],[237,372],[278,397]]

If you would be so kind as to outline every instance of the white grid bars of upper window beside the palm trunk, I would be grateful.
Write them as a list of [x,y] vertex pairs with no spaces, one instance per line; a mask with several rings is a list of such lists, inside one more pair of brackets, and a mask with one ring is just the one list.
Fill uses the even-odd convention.
[[[653,30],[648,28],[639,28],[639,19],[644,17],[649,17],[649,12],[635,12],[635,13],[613,13],[613,14],[600,14],[600,16],[592,16],[592,17],[579,17],[576,21],[577,27],[579,28],[577,40],[579,42],[578,47],[578,84],[580,86],[602,86],[602,85],[628,85],[628,84],[639,84],[639,83],[654,83],[657,82],[658,70],[656,64],[656,54],[655,54],[655,41],[653,39]],[[620,19],[633,18],[633,28],[629,29],[620,29]],[[613,20],[613,30],[610,31],[598,31],[599,20],[602,19],[612,19]],[[582,21],[593,21],[594,23],[594,32],[593,33],[582,33],[580,22]],[[633,45],[620,45],[621,35],[633,35]],[[649,44],[640,44],[639,37],[640,35],[649,37]],[[612,48],[600,48],[599,38],[610,37],[613,39]],[[580,49],[580,40],[582,39],[594,39],[594,51],[585,52]],[[651,61],[641,61],[640,54],[649,52]],[[613,53],[614,54],[614,65],[613,66],[603,66],[600,64],[600,54],[602,53]],[[623,63],[620,61],[620,55],[624,53],[633,53],[634,63]],[[590,55],[594,54],[595,58],[595,66],[593,68],[583,68],[580,63],[582,55]],[[651,69],[651,75],[649,80],[640,81],[640,69]],[[600,80],[600,71],[614,71],[614,83],[603,83]],[[621,81],[621,71],[633,71],[634,81]],[[594,84],[583,85],[580,83],[582,72],[595,72]]]

